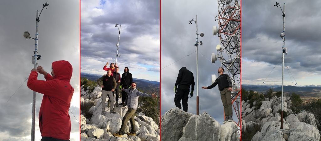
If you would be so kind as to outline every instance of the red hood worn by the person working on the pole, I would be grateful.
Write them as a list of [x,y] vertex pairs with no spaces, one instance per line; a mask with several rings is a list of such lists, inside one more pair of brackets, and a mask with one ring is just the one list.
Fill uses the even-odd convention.
[[55,73],[54,79],[70,82],[71,75],[73,74],[73,67],[68,61],[60,60],[52,62],[52,70]]

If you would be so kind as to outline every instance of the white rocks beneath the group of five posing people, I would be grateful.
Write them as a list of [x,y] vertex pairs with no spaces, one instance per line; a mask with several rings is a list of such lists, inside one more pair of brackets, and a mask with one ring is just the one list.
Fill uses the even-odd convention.
[[[127,128],[123,137],[114,137],[121,127],[122,120],[128,107],[122,105],[114,108],[115,114],[109,112],[108,97],[106,99],[105,114],[101,115],[101,88],[95,89],[89,93],[81,88],[81,105],[94,103],[88,111],[81,111],[81,141],[160,141],[160,129],[151,117],[143,113],[134,117],[136,126],[136,136],[127,136],[126,133],[131,129],[130,121],[127,122]],[[122,103],[121,98],[118,103]],[[115,100],[114,100],[115,101]],[[81,109],[83,110],[83,109]],[[92,114],[87,119],[84,113]]]

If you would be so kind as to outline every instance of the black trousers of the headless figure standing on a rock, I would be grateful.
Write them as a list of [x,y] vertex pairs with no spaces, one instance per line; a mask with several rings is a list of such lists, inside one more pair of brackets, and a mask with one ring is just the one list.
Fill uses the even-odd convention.
[[187,100],[188,100],[188,93],[189,93],[189,86],[179,86],[177,88],[176,94],[175,94],[175,98],[174,98],[174,102],[175,102],[175,106],[182,109],[181,105],[180,105],[180,101],[182,100],[182,105],[183,105],[183,111],[187,112]]

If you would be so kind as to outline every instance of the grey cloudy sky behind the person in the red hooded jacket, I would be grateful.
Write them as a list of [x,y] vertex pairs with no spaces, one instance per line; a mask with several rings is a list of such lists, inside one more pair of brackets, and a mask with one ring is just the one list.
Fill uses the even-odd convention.
[[[46,2],[0,2],[0,141],[29,141],[31,138],[32,90],[24,81],[33,68],[31,56],[35,41],[24,38],[23,33],[28,30],[31,37],[35,36],[36,11],[40,12]],[[71,63],[73,76],[70,83],[74,95],[70,110],[79,121],[79,1],[55,0],[48,4],[40,15],[38,54],[41,59],[38,64],[51,72],[54,61],[67,60]],[[42,74],[38,79],[45,80]],[[36,140],[41,139],[38,117],[42,97],[43,94],[37,93]],[[70,140],[76,141],[79,140],[79,123],[71,112]]]

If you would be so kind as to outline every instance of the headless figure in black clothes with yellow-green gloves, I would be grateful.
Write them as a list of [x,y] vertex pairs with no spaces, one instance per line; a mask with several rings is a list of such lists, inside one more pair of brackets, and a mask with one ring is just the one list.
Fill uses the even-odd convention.
[[[189,93],[189,87],[192,84],[192,91],[190,94],[190,97],[193,97],[193,91],[194,91],[194,76],[193,73],[189,70],[187,70],[186,67],[182,67],[179,72],[176,79],[174,92],[175,92],[175,106],[182,109],[180,101],[182,100],[183,105],[183,111],[187,112],[187,100],[188,100],[188,93]],[[178,88],[177,88],[178,85]]]

